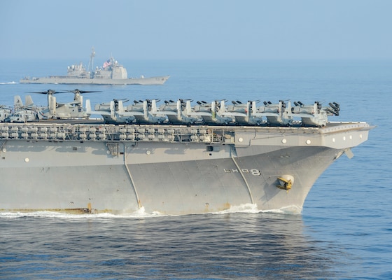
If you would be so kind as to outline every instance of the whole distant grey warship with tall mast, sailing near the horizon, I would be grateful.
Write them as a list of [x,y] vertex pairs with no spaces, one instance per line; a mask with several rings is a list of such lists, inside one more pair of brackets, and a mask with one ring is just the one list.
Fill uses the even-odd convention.
[[48,76],[41,78],[25,77],[20,83],[61,83],[61,84],[97,84],[97,85],[162,85],[169,76],[128,78],[127,69],[110,57],[101,67],[94,69],[95,51],[92,48],[88,70],[82,62],[68,66],[66,76]]

